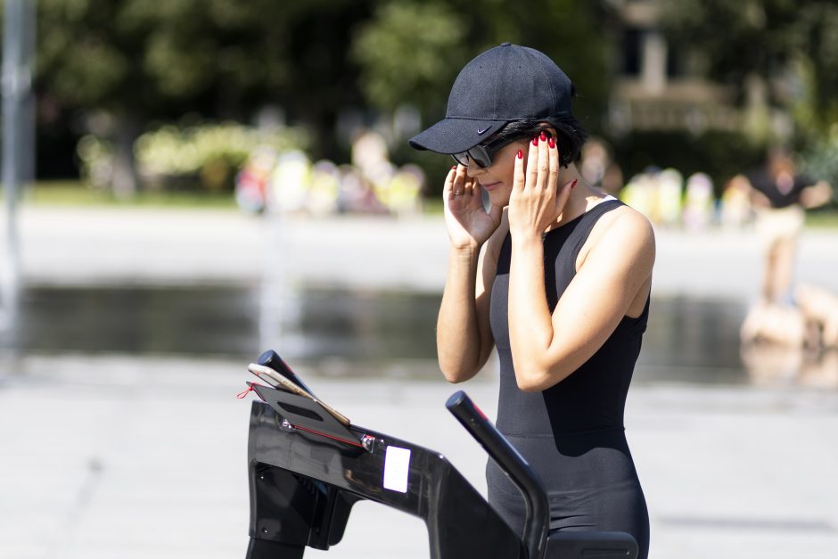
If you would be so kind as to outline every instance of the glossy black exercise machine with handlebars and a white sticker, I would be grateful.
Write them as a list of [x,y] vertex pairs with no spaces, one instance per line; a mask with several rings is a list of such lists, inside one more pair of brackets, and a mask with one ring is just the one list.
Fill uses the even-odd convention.
[[251,407],[247,559],[299,559],[307,546],[328,549],[341,541],[362,499],[423,519],[431,559],[637,555],[634,539],[622,532],[548,534],[538,476],[462,391],[447,407],[522,490],[528,512],[522,536],[439,452],[343,424],[316,399],[250,384],[262,401]]

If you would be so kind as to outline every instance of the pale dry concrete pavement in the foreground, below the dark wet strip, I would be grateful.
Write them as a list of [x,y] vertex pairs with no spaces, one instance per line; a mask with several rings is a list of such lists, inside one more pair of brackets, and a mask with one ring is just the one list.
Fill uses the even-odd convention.
[[[243,555],[244,364],[62,356],[4,370],[0,556]],[[354,423],[439,450],[485,491],[486,456],[443,407],[454,387],[300,374]],[[457,388],[495,414],[491,372]],[[838,393],[656,383],[631,390],[626,421],[651,557],[834,556]],[[426,538],[418,520],[363,503],[328,556],[418,559]]]

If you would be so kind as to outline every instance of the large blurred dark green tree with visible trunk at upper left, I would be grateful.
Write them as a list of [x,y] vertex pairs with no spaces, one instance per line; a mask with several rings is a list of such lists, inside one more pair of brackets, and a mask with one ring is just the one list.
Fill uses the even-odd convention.
[[337,111],[359,97],[346,49],[371,2],[40,0],[37,91],[109,133],[122,195],[143,127],[185,113],[247,119],[276,103],[328,153]]

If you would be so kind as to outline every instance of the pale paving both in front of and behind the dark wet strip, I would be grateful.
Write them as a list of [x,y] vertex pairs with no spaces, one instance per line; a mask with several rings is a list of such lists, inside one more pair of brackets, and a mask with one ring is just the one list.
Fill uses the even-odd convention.
[[[27,210],[21,224],[24,273],[42,284],[323,282],[332,267],[334,284],[431,291],[445,265],[433,218],[277,230],[229,212]],[[659,293],[752,296],[752,234],[661,231],[658,240]],[[809,234],[801,276],[838,288],[836,241]],[[234,394],[244,365],[0,356],[0,557],[241,557],[249,404]],[[443,408],[453,387],[308,378],[355,423],[439,450],[484,490],[485,456]],[[463,388],[494,414],[491,373]],[[655,382],[632,389],[627,425],[653,558],[834,557],[834,390]],[[329,556],[427,557],[424,538],[420,522],[362,504]]]

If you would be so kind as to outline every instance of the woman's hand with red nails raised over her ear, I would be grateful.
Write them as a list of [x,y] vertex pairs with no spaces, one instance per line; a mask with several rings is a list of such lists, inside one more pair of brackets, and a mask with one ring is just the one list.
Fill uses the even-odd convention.
[[509,197],[509,230],[521,238],[544,233],[564,210],[571,185],[559,185],[559,150],[544,132],[530,142],[526,167],[523,152],[515,159],[513,189]]

